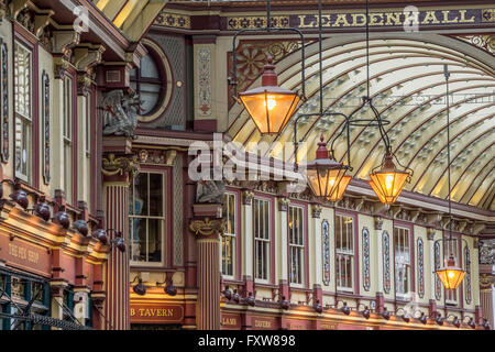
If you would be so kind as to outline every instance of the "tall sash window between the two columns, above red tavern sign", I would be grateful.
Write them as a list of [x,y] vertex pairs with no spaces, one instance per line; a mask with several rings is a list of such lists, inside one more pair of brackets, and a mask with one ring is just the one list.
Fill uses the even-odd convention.
[[164,262],[164,175],[140,173],[130,189],[131,264],[158,265]]

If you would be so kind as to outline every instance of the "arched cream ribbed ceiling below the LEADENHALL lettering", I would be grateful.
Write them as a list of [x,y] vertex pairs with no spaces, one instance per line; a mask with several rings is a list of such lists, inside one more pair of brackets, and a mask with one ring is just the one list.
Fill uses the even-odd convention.
[[[352,113],[366,89],[366,50],[364,35],[337,35],[323,40],[323,108],[331,112]],[[495,46],[494,36],[454,38],[436,34],[373,34],[370,48],[371,96],[383,118],[400,163],[414,169],[407,190],[446,199],[447,130],[446,81],[443,65],[450,69],[450,135],[452,199],[483,209],[495,209]],[[484,41],[484,42],[483,42]],[[479,47],[475,46],[477,44]],[[483,46],[483,47],[482,47]],[[306,96],[300,113],[319,111],[318,43],[306,46]],[[239,59],[256,65],[243,51]],[[246,57],[242,57],[242,56]],[[249,65],[248,65],[249,66]],[[245,69],[255,68],[245,67]],[[260,68],[260,67],[258,67]],[[298,50],[276,63],[279,84],[301,88],[301,63]],[[242,68],[240,68],[242,76]],[[255,79],[251,87],[260,86]],[[276,136],[261,136],[245,111],[234,105],[229,112],[229,134],[249,150],[258,142],[290,144],[294,118]],[[356,118],[373,118],[369,110]],[[342,127],[334,117],[301,118],[298,138],[308,145],[309,160],[315,155],[321,134],[331,141]],[[345,136],[345,134],[344,134]],[[254,142],[250,144],[250,142]],[[384,145],[376,128],[352,127],[350,133],[353,177],[367,179],[370,170],[383,157]],[[264,156],[294,161],[293,152],[273,147]],[[346,163],[346,141],[336,143],[336,156]],[[306,150],[298,158],[306,157]]]

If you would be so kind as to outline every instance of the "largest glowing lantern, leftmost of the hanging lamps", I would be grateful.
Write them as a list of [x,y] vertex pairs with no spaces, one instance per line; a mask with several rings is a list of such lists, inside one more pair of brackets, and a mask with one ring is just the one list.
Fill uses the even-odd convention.
[[273,58],[268,56],[266,61],[262,86],[239,94],[242,105],[262,135],[278,134],[300,101],[297,91],[278,86]]

